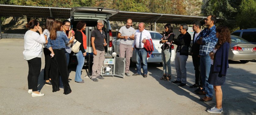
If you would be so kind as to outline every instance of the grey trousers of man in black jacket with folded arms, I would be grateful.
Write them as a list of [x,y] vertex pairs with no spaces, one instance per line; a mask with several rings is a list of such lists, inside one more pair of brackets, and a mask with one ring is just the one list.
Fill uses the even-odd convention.
[[175,69],[177,73],[177,81],[181,81],[181,83],[187,82],[187,69],[186,69],[187,59],[188,59],[188,56],[180,55],[180,52],[176,53]]

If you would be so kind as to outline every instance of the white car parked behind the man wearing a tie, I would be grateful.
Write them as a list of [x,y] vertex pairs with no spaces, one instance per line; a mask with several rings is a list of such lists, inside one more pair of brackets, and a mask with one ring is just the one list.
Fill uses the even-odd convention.
[[[163,36],[160,33],[155,32],[155,31],[149,31],[149,32],[150,32],[150,35],[152,37],[154,51],[152,52],[152,55],[149,58],[147,58],[147,62],[148,63],[162,63],[162,55],[161,55],[161,50],[162,49],[161,49],[161,46],[163,44],[160,44],[159,41],[161,40],[161,38]],[[116,54],[119,56],[120,39],[116,40],[116,38],[117,37],[114,37],[114,40],[113,40],[112,51],[116,52]],[[133,56],[131,57],[131,61],[134,62],[134,63],[137,63],[135,50],[133,50]],[[171,54],[171,62],[173,62],[174,58],[175,58],[175,51],[174,51],[174,46],[173,45],[171,47],[171,50],[172,50],[172,52],[171,52],[172,53]]]

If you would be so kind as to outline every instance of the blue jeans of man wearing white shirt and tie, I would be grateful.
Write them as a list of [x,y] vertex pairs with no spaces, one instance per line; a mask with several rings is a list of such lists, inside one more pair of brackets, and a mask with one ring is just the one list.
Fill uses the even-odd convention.
[[148,52],[146,51],[146,49],[136,48],[136,59],[137,59],[136,66],[137,66],[138,74],[141,74],[141,60],[142,60],[143,75],[148,74],[147,55],[148,55]]

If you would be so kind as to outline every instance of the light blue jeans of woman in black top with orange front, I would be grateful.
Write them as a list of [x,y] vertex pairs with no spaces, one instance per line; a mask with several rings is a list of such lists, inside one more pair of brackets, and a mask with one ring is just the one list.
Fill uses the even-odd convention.
[[[85,49],[86,51],[86,49]],[[83,53],[81,50],[79,50],[78,53],[75,53],[75,56],[77,58],[77,66],[76,66],[76,70],[75,70],[75,81],[76,82],[81,82],[82,79],[81,79],[81,75],[82,75],[82,68],[83,68],[83,65],[84,65],[84,56],[83,56]]]

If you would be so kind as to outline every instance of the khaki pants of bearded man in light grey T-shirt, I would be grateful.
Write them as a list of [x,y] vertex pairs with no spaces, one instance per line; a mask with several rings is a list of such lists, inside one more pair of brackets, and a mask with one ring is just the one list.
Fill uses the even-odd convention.
[[133,55],[132,45],[119,44],[119,54],[121,58],[125,57],[125,73],[129,73],[130,58]]

